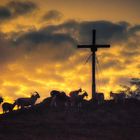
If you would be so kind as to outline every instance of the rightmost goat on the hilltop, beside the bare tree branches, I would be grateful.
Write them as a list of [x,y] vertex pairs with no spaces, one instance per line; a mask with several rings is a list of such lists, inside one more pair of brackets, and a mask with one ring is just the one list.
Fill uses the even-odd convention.
[[126,94],[125,93],[113,93],[111,91],[110,97],[112,97],[116,103],[119,101],[125,102]]

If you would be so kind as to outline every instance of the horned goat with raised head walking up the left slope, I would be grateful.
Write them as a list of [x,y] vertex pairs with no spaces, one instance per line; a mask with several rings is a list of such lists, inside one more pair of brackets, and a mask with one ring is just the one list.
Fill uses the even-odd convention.
[[36,94],[32,95],[30,98],[18,98],[14,104],[17,105],[18,108],[33,106],[35,102],[37,101],[37,99],[40,98],[39,94],[37,92],[35,93]]

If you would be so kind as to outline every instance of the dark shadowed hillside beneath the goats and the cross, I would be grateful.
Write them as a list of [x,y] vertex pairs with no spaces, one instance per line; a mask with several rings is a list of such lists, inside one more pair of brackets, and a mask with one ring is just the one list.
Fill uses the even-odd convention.
[[140,102],[14,111],[0,116],[0,140],[140,140]]

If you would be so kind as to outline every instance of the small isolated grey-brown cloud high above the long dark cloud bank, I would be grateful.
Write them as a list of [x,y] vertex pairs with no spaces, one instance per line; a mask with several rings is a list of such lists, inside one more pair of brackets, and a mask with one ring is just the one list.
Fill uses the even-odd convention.
[[48,11],[42,18],[43,21],[50,20],[60,20],[62,18],[62,13],[57,10]]

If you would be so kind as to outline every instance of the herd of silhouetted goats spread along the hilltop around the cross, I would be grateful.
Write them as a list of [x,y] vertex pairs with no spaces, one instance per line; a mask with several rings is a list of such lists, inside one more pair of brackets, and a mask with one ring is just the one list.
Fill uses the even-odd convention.
[[[88,97],[88,94],[86,91],[83,91],[81,88],[75,91],[71,91],[69,93],[69,96],[66,95],[65,92],[57,91],[57,90],[52,90],[50,92],[50,97],[46,99],[51,99],[50,106],[51,107],[57,107],[60,104],[65,107],[82,107],[82,103],[85,97]],[[114,102],[122,101],[124,102],[126,99],[126,94],[125,93],[113,93],[110,92],[110,97],[113,98]],[[32,107],[35,105],[37,99],[40,98],[40,95],[38,92],[35,92],[34,94],[31,95],[29,98],[18,98],[14,101],[13,104],[4,102],[2,104],[2,109],[3,113],[6,112],[12,112],[14,107],[17,106],[18,109],[22,109],[25,107]],[[45,101],[44,99],[43,101]],[[104,94],[103,93],[97,93],[96,94],[96,101],[98,104],[103,104],[105,99],[104,99]],[[3,98],[0,97],[0,104],[3,102]]]

